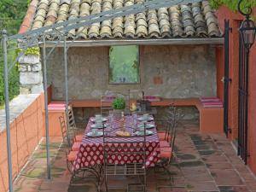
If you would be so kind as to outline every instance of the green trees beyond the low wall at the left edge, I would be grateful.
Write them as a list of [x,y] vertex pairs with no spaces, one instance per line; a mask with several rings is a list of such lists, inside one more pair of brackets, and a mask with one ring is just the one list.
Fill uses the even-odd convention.
[[[0,1],[0,38],[2,31],[6,29],[8,35],[18,32],[20,24],[26,15],[27,0],[1,0]],[[1,44],[2,45],[2,44]],[[9,42],[8,49],[17,47],[16,42]],[[8,52],[9,67],[15,61],[17,51],[10,49]],[[9,72],[9,99],[11,100],[19,94],[19,71],[18,67],[13,67]],[[4,102],[4,83],[3,83],[3,49],[0,46],[0,106]]]

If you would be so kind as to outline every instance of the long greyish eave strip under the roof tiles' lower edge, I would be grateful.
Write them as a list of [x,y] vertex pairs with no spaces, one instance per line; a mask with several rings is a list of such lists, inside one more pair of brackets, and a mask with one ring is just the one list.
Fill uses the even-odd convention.
[[[224,38],[148,38],[148,39],[89,39],[67,41],[68,47],[97,47],[113,45],[165,45],[165,44],[224,44]],[[40,45],[43,45],[40,43]],[[63,41],[47,41],[46,47],[63,47]]]

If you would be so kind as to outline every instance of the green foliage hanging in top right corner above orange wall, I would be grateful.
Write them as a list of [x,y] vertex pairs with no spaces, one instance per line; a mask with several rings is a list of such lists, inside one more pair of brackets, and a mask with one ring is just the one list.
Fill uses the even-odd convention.
[[[213,9],[218,9],[221,5],[226,5],[233,11],[237,11],[237,5],[239,0],[210,0],[211,6]],[[243,0],[241,2],[241,9],[247,13],[248,8],[253,8],[256,6],[256,0]]]

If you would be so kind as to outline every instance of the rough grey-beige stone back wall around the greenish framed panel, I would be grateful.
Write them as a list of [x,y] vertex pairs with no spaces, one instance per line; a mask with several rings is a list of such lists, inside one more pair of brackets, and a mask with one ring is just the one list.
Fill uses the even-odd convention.
[[[216,96],[215,48],[209,45],[141,46],[140,84],[108,84],[108,47],[70,48],[68,84],[71,99],[100,98],[109,90],[144,90],[166,98]],[[64,98],[63,49],[48,61],[53,99]]]

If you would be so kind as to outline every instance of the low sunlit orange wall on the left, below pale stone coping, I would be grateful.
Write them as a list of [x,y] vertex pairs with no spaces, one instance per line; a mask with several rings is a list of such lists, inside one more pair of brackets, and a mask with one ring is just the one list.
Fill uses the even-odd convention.
[[[44,134],[44,93],[32,102],[10,125],[13,177],[26,164]],[[8,162],[6,131],[0,133],[0,191],[7,191]]]

